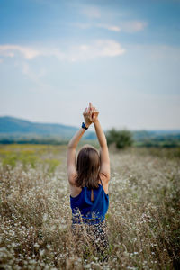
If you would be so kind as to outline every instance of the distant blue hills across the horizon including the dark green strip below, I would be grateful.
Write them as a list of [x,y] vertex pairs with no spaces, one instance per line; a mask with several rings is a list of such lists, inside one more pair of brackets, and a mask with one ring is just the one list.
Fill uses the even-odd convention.
[[[77,127],[40,123],[23,119],[0,117],[0,143],[67,143]],[[130,130],[136,146],[180,146],[180,130]],[[94,131],[85,132],[83,139],[96,139]]]

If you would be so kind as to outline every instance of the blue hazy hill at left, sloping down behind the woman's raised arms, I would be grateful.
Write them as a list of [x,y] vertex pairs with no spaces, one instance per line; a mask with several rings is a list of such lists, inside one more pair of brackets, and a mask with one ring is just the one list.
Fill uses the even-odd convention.
[[[68,139],[72,137],[78,128],[54,124],[54,123],[39,123],[22,120],[10,116],[0,117],[0,136],[1,137],[57,137],[60,139]],[[94,132],[90,131],[85,134],[85,139],[94,139]]]

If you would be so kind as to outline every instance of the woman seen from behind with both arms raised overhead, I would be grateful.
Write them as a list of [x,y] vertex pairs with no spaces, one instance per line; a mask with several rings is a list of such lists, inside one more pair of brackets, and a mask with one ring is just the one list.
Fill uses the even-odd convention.
[[[108,250],[105,214],[109,207],[110,158],[98,114],[92,103],[85,108],[85,122],[68,143],[67,175],[74,236],[104,260],[107,259]],[[100,144],[100,152],[90,145],[85,145],[79,151],[76,161],[76,146],[92,123]]]

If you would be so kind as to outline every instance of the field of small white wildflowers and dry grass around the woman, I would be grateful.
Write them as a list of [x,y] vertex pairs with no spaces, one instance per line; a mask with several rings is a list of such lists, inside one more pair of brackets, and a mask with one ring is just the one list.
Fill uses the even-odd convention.
[[179,269],[179,148],[110,150],[110,250],[76,252],[66,146],[0,146],[0,269]]

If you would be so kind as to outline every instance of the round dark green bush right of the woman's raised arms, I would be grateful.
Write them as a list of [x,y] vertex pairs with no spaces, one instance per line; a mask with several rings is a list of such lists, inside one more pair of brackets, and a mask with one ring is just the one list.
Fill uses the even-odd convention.
[[130,130],[109,130],[106,133],[107,144],[115,143],[116,148],[130,147],[133,143],[132,134]]

